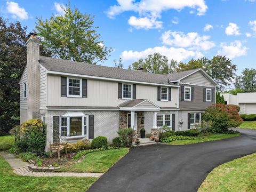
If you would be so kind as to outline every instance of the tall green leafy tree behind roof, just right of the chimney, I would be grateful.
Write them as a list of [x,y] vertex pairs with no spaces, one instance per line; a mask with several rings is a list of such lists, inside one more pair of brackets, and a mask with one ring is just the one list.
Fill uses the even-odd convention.
[[94,64],[106,60],[111,48],[108,49],[100,40],[94,17],[73,10],[70,5],[62,9],[65,14],[52,15],[50,20],[37,18],[36,29],[45,48],[60,59]]

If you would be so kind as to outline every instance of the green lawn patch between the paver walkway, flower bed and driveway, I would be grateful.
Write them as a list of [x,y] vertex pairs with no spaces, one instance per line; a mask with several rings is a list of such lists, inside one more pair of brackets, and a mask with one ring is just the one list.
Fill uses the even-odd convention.
[[62,167],[57,171],[104,173],[128,152],[128,148],[93,152],[85,155],[81,162]]

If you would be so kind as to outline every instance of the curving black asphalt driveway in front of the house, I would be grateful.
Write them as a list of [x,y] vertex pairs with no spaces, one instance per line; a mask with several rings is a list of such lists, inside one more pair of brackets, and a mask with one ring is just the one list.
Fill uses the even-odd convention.
[[194,145],[132,148],[89,191],[197,191],[214,167],[256,152],[256,130]]

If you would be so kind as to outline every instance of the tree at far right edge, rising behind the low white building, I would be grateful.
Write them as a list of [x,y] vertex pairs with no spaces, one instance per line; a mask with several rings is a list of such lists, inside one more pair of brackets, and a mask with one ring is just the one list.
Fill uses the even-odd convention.
[[244,92],[256,92],[256,70],[245,68],[235,79],[235,87]]

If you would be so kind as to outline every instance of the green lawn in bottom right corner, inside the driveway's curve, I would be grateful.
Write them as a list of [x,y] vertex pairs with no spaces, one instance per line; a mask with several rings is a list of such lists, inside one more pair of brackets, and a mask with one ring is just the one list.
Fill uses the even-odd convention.
[[222,164],[206,177],[199,192],[256,191],[256,154]]

